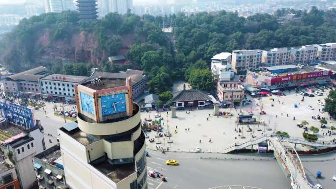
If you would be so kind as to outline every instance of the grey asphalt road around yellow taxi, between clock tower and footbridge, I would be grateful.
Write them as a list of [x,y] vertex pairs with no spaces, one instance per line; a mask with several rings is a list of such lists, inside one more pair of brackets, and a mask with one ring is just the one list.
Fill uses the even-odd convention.
[[[168,177],[167,183],[148,178],[148,189],[208,189],[224,185],[245,185],[260,189],[288,189],[278,162],[200,159],[195,153],[167,153],[149,151],[148,170],[155,169]],[[236,157],[244,157],[236,155]],[[257,156],[256,156],[257,157]],[[180,165],[166,165],[175,159]]]

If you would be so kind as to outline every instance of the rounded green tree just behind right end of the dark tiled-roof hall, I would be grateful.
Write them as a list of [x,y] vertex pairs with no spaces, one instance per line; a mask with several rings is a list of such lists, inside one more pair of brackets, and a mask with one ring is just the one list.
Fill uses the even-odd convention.
[[194,89],[210,92],[213,90],[212,73],[209,69],[195,69],[189,76],[189,83]]

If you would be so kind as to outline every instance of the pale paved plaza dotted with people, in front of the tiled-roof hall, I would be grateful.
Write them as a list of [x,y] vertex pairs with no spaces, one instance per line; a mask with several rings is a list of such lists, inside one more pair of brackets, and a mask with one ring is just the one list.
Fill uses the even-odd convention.
[[[203,152],[223,152],[226,146],[250,139],[252,135],[272,134],[274,131],[284,131],[291,137],[302,138],[303,129],[297,127],[296,124],[307,120],[309,123],[308,127],[315,126],[319,128],[319,120],[313,120],[311,118],[313,115],[321,115],[321,117],[326,117],[328,121],[326,129],[319,128],[320,131],[317,134],[319,139],[330,141],[335,137],[335,135],[323,135],[323,133],[327,133],[331,126],[336,126],[336,121],[331,121],[326,112],[319,113],[319,109],[322,109],[322,106],[317,104],[318,99],[324,102],[327,90],[324,92],[324,96],[305,97],[304,102],[301,102],[302,96],[296,95],[293,91],[291,93],[285,91],[284,93],[286,96],[272,96],[274,102],[270,100],[270,97],[261,97],[260,100],[258,100],[258,98],[252,98],[248,95],[248,99],[252,100],[252,105],[238,107],[237,109],[220,108],[220,111],[228,111],[234,114],[234,116],[227,118],[224,116],[214,116],[213,109],[194,110],[190,111],[190,114],[186,113],[186,110],[178,110],[176,112],[177,118],[170,118],[170,111],[168,111],[168,114],[167,111],[160,112],[161,117],[164,119],[162,133],[167,133],[169,130],[172,136],[170,138],[160,137],[159,141],[161,141],[161,144],[156,144],[157,138],[155,138],[155,142],[152,143],[147,139],[146,144],[151,149],[156,149],[156,146],[164,146],[165,148],[169,147],[171,151],[195,152],[196,147],[200,147]],[[278,101],[280,101],[280,103]],[[274,107],[271,106],[272,102]],[[262,104],[266,115],[260,115],[260,106],[257,104]],[[294,104],[297,104],[298,108],[294,108]],[[312,106],[314,110],[308,109],[306,107],[307,105]],[[252,110],[256,119],[260,119],[264,124],[259,124],[259,126],[258,124],[250,125],[252,132],[247,132],[247,125],[237,125],[236,122],[237,114],[240,110],[245,113]],[[154,118],[156,113],[156,111],[143,112],[141,113],[141,119],[142,121],[144,121],[145,118],[158,119]],[[209,120],[207,121],[208,117]],[[237,133],[235,131],[237,128],[240,128],[242,133]],[[269,128],[271,130],[268,130]],[[190,130],[188,131],[188,129]],[[174,133],[175,130],[177,134]],[[147,132],[147,135],[149,135],[149,138],[154,138],[157,136],[157,133],[152,131]],[[243,135],[245,138],[241,138],[239,135]],[[209,142],[210,139],[212,142]],[[172,140],[173,143],[168,144],[168,140]],[[201,142],[199,142],[199,140]],[[302,146],[299,145],[297,148],[300,149]],[[305,149],[307,149],[307,147],[305,147]]]

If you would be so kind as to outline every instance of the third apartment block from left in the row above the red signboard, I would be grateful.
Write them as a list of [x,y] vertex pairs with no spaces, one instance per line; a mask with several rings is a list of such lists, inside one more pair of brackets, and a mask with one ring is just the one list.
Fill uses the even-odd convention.
[[318,45],[304,45],[290,49],[291,64],[310,64],[316,62]]

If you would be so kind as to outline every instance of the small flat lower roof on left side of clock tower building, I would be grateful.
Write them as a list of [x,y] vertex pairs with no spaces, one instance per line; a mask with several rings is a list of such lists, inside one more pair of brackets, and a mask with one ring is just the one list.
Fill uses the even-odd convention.
[[83,144],[84,146],[87,146],[93,142],[100,140],[100,138],[94,135],[86,134],[83,131],[81,131],[76,121],[67,123],[62,128],[60,128],[60,130],[68,134],[69,136],[71,136],[72,138],[74,138],[79,143]]

